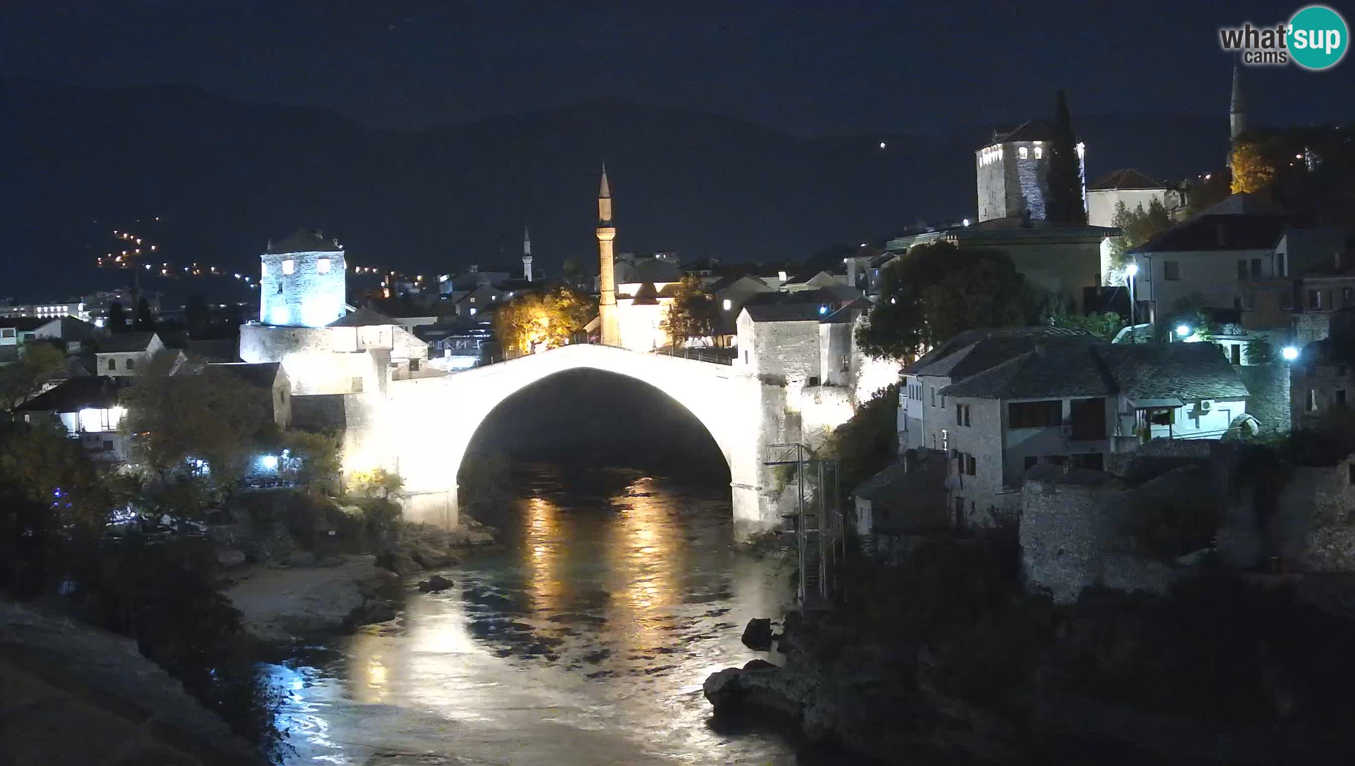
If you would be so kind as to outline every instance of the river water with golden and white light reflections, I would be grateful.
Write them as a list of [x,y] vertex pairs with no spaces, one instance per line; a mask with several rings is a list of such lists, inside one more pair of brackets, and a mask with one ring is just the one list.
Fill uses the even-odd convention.
[[701,685],[753,658],[787,564],[733,548],[729,489],[533,465],[501,545],[406,583],[397,621],[267,666],[289,763],[821,763],[791,733],[715,725]]

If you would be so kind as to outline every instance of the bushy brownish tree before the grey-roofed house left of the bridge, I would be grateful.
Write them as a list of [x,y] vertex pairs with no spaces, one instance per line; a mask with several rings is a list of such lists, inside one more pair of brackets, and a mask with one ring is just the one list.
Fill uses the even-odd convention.
[[172,374],[175,361],[173,352],[157,354],[122,395],[133,453],[161,479],[194,458],[228,484],[244,473],[256,437],[272,423],[267,395],[222,367]]

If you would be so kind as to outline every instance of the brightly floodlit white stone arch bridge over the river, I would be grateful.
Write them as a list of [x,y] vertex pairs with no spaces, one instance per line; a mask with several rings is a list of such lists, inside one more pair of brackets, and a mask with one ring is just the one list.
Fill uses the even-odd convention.
[[652,385],[706,427],[729,464],[734,533],[747,537],[780,523],[768,443],[786,439],[786,388],[737,367],[573,344],[446,377],[390,381],[385,396],[350,418],[347,468],[385,465],[405,481],[405,518],[455,525],[457,473],[480,424],[527,385],[566,370],[595,369]]

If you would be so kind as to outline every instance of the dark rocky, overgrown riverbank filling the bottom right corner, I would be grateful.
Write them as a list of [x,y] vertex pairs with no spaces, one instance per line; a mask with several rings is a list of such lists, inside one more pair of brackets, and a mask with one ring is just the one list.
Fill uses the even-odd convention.
[[1355,747],[1341,649],[1355,625],[1285,591],[1220,580],[1073,607],[1031,597],[963,629],[954,611],[931,614],[925,633],[860,617],[787,614],[783,667],[706,679],[715,714],[780,719],[889,763],[1262,766],[1337,763]]

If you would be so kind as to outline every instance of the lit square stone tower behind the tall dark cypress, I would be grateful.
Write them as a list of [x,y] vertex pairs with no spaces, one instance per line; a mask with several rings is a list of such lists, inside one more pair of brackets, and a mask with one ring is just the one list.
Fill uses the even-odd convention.
[[[978,180],[978,220],[1030,218],[1043,221],[1049,203],[1049,160],[1054,126],[1028,121],[974,152]],[[1077,144],[1083,205],[1087,203],[1085,146]]]

